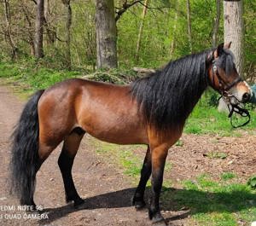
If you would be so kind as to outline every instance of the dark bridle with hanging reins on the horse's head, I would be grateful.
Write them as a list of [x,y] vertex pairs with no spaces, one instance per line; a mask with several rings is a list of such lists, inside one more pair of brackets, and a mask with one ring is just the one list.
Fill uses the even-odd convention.
[[[229,114],[229,118],[230,118],[230,124],[234,127],[234,128],[238,128],[238,127],[241,127],[241,126],[244,126],[244,125],[247,125],[250,120],[251,120],[251,116],[250,116],[250,113],[247,111],[247,109],[245,108],[241,108],[239,107],[239,105],[232,105],[230,103],[230,97],[234,97],[236,98],[236,96],[234,96],[233,94],[231,94],[229,92],[229,90],[235,86],[236,84],[242,82],[243,80],[241,79],[241,77],[238,77],[236,78],[231,84],[227,84],[223,78],[221,78],[218,74],[218,67],[216,65],[216,60],[213,60],[212,61],[212,85],[214,84],[214,79],[215,79],[215,76],[217,76],[218,78],[218,84],[219,84],[219,92],[221,94],[221,96],[218,98],[218,100],[222,97],[224,97],[224,100],[227,102],[227,106],[229,107],[229,111],[230,111],[230,114]],[[214,88],[215,90],[217,90],[216,88]],[[238,101],[239,103],[241,101],[239,101],[237,98],[236,98],[236,101]],[[240,114],[241,117],[244,117],[244,118],[248,118],[247,121],[241,125],[234,125],[233,124],[233,120],[232,120],[232,115],[233,113],[238,113]]]

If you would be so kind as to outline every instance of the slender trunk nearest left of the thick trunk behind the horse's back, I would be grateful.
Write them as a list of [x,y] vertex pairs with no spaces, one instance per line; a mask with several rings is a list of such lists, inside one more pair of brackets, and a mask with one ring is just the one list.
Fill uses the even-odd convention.
[[67,68],[71,69],[71,52],[70,52],[70,28],[72,25],[72,9],[70,6],[70,0],[62,0],[62,3],[66,6],[67,9],[67,20],[66,20],[66,61],[67,61]]

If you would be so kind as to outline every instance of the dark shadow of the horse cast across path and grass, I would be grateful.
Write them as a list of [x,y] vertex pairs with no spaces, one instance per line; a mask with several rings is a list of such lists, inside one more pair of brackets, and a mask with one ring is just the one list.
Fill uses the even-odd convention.
[[[84,205],[80,206],[79,209],[73,208],[73,204],[44,209],[44,212],[48,212],[49,219],[42,219],[38,223],[51,223],[72,212],[82,210],[129,207],[135,190],[136,188],[125,188],[84,199]],[[150,188],[147,188],[146,199],[149,190]],[[249,190],[219,193],[165,187],[162,190],[160,206],[163,211],[180,212],[186,210],[182,214],[167,218],[168,222],[196,213],[239,212],[256,205],[256,194],[252,194]]]

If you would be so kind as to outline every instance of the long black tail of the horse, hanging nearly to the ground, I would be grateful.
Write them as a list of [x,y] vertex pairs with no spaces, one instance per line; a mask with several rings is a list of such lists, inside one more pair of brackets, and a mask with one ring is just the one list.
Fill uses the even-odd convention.
[[38,156],[38,100],[43,93],[44,90],[39,90],[26,103],[12,135],[10,193],[20,199],[21,205],[34,205],[36,173],[41,165]]

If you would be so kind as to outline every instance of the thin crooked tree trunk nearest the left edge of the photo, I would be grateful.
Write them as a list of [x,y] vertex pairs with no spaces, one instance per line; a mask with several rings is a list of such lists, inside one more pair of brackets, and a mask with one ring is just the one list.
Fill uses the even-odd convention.
[[6,22],[5,36],[6,36],[8,43],[12,49],[11,58],[12,58],[12,60],[14,60],[17,57],[18,48],[16,47],[15,42],[12,38],[12,34],[11,34],[9,1],[4,0],[3,5],[4,5],[4,16],[5,16],[5,22]]

